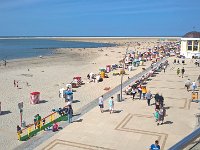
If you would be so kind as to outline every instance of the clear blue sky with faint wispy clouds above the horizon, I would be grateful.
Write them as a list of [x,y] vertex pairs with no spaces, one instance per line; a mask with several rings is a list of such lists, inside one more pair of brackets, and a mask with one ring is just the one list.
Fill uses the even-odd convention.
[[200,0],[0,0],[0,36],[182,36],[199,14]]

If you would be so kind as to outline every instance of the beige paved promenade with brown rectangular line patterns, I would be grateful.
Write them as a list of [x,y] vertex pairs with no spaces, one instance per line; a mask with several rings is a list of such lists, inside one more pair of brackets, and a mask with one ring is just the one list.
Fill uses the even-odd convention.
[[[164,96],[167,116],[163,125],[157,126],[154,120],[154,105],[147,106],[146,100],[132,100],[131,96],[123,95],[124,101],[115,101],[115,113],[107,111],[106,100],[104,113],[96,106],[35,149],[145,150],[155,140],[159,140],[161,149],[168,149],[195,129],[199,104],[191,102],[191,92],[186,91],[184,82],[188,78],[196,80],[200,72],[200,67],[190,60],[186,60],[186,65],[174,65],[172,58],[169,62],[165,73],[160,72],[147,83],[153,94],[159,92]],[[181,78],[176,69],[183,66],[186,73]]]

